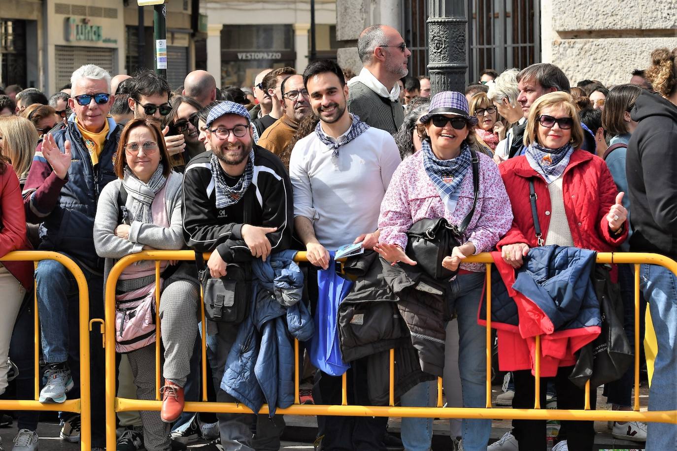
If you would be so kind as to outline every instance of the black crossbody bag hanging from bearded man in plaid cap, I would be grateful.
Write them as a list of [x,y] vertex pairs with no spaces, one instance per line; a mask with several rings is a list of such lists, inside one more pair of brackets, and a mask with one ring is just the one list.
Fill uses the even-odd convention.
[[229,263],[226,275],[217,278],[211,277],[199,252],[195,253],[195,262],[202,285],[204,315],[217,323],[242,323],[252,299],[249,264]]

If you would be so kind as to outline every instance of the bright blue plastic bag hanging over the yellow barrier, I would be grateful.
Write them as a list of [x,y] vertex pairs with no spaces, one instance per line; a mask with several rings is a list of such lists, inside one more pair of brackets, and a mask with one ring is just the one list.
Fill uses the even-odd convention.
[[334,252],[329,254],[329,267],[318,271],[318,307],[315,309],[315,334],[307,343],[310,361],[330,376],[341,376],[350,364],[343,362],[339,345],[336,315],[339,304],[348,295],[353,282],[336,274]]

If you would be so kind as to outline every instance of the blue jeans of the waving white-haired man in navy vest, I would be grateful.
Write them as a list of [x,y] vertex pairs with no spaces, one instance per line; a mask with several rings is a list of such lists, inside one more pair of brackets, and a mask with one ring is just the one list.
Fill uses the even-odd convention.
[[[89,318],[104,318],[104,278],[81,268],[89,289]],[[38,295],[38,314],[42,331],[45,362],[68,362],[74,387],[68,398],[80,396],[80,300],[75,277],[56,260],[41,260],[35,271]],[[89,332],[91,445],[106,446],[106,409],[96,400],[105,399],[105,359],[101,332],[94,325]],[[72,417],[66,413],[66,417]],[[62,417],[64,419],[64,417]]]

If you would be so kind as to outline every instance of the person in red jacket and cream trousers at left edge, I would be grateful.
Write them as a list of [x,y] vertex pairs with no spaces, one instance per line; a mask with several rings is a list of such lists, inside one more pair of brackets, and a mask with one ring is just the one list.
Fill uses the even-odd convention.
[[[3,137],[0,135],[0,149]],[[19,180],[5,156],[0,156],[0,256],[20,249],[30,249],[26,238],[26,216]],[[7,355],[14,321],[24,300],[26,289],[32,289],[31,262],[1,262],[0,292],[0,394],[7,388]]]

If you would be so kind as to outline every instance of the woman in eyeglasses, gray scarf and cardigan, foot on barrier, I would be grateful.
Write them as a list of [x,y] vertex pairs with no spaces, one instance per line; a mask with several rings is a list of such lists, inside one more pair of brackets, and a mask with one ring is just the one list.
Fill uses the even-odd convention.
[[[183,177],[171,169],[165,140],[154,122],[140,118],[127,122],[118,145],[115,173],[118,179],[102,190],[94,221],[94,245],[97,254],[106,258],[104,277],[118,259],[128,254],[181,250],[185,244],[181,216]],[[190,371],[200,299],[193,264],[162,261],[160,270],[165,385],[161,389],[162,410],[141,412],[144,446],[149,451],[171,450],[171,423],[183,411],[183,385]],[[155,262],[127,266],[116,285],[116,316],[125,308],[148,303],[154,318],[154,290]],[[127,327],[137,326],[130,320]],[[156,333],[121,340],[123,333],[121,322],[116,321],[116,350],[129,357],[137,397],[154,400]]]

